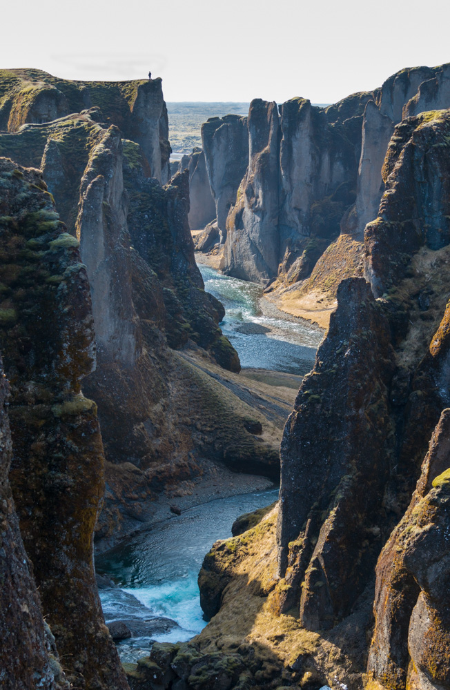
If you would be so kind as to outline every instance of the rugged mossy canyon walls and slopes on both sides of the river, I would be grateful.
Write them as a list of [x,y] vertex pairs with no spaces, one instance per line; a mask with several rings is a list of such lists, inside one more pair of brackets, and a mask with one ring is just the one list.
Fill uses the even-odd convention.
[[[449,75],[256,99],[169,177],[161,80],[0,71],[8,690],[449,687]],[[327,326],[296,395],[240,371],[190,224]],[[202,632],[121,664],[94,544],[218,468],[280,498],[206,554]]]

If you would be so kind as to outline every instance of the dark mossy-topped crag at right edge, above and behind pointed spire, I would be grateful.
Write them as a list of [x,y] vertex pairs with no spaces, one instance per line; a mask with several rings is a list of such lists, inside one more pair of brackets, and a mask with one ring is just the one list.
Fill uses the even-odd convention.
[[426,112],[395,128],[383,166],[386,190],[378,218],[366,227],[364,274],[380,297],[399,284],[421,246],[450,242],[449,111]]

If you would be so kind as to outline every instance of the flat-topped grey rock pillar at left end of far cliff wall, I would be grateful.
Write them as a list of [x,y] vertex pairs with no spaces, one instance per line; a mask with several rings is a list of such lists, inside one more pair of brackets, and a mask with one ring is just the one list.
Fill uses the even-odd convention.
[[202,147],[215,200],[220,244],[225,242],[226,218],[248,166],[248,146],[246,117],[210,117],[202,125]]

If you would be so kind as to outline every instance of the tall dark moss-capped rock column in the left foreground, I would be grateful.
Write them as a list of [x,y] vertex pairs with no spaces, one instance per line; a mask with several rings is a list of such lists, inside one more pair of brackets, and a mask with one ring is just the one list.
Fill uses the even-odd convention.
[[0,351],[21,535],[68,680],[125,690],[92,563],[104,455],[97,407],[81,393],[95,364],[86,267],[41,172],[5,159],[0,170]]

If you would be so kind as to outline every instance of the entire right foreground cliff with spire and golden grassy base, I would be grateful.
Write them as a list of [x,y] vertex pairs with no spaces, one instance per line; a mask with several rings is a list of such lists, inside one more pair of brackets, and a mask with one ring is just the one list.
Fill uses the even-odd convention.
[[284,428],[279,506],[206,555],[211,622],[176,651],[188,687],[211,687],[219,653],[229,687],[449,684],[449,125],[444,110],[395,129],[370,283],[337,289]]

